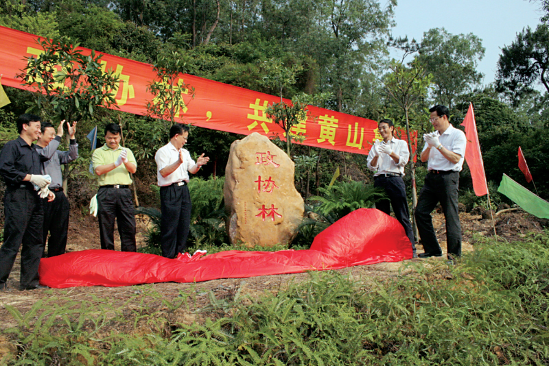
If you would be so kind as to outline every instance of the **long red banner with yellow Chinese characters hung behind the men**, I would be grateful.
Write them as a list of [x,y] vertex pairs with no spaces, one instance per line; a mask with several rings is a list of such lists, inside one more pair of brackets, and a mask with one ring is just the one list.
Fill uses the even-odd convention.
[[[38,38],[33,34],[0,27],[0,73],[3,74],[3,85],[25,88],[16,74],[25,68],[25,57],[36,56],[43,51],[36,42]],[[84,53],[91,52],[89,49],[82,50]],[[116,95],[118,109],[132,114],[147,114],[146,105],[153,98],[147,86],[156,78],[152,66],[101,54],[104,68],[112,69],[119,75],[120,84]],[[264,114],[268,105],[280,101],[279,97],[186,74],[180,75],[178,82],[181,81],[194,87],[195,96],[194,99],[189,96],[187,108],[179,113],[179,122],[237,134],[259,132],[268,137],[283,138],[282,128]],[[306,136],[302,145],[368,154],[371,142],[380,138],[376,121],[313,106],[308,109],[307,121],[291,130],[294,134]]]

